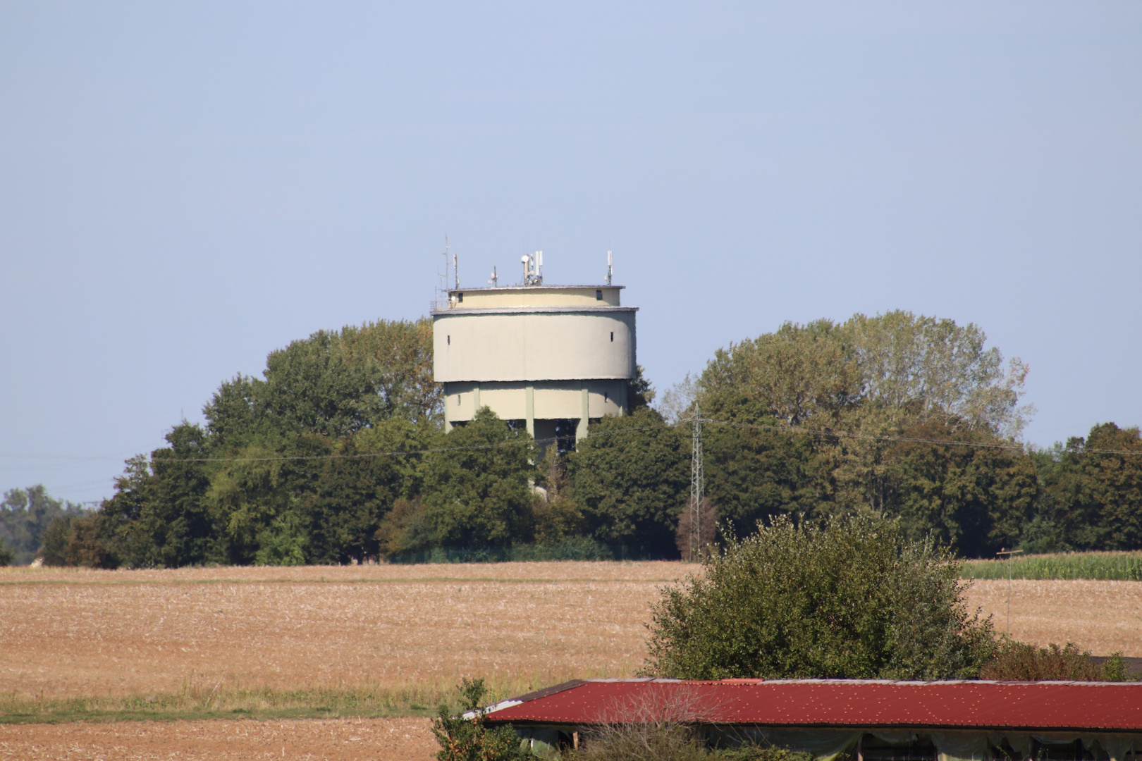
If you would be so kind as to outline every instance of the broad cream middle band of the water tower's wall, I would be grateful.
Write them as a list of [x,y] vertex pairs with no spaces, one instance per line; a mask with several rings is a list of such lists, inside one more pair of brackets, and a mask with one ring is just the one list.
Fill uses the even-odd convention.
[[434,378],[441,383],[635,374],[634,310],[443,311],[433,317]]

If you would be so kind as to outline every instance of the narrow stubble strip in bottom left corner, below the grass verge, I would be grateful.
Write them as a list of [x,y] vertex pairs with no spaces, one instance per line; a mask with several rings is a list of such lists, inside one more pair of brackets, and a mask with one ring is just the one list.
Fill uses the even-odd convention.
[[0,724],[0,759],[429,761],[427,719]]

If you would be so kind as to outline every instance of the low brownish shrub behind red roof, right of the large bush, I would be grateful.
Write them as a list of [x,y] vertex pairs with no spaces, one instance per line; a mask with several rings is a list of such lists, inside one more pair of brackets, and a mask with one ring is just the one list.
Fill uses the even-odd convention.
[[1075,642],[1060,647],[1036,647],[1027,642],[1005,641],[995,657],[980,672],[982,679],[998,681],[1126,681],[1126,663],[1121,653],[1107,658],[1102,667],[1091,661],[1089,650]]

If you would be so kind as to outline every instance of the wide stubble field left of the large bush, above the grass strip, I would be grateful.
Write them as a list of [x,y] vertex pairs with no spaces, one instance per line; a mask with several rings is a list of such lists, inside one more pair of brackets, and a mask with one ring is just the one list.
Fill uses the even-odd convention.
[[629,675],[677,562],[0,572],[0,694]]

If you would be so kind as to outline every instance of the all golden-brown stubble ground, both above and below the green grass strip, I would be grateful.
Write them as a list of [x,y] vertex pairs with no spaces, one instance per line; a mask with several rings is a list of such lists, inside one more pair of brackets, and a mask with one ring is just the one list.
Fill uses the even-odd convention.
[[[658,589],[697,566],[0,569],[0,694],[65,699],[196,689],[357,686],[439,691],[626,677]],[[1006,621],[1006,581],[970,605]],[[1038,643],[1142,656],[1142,583],[1012,583],[1011,629]],[[429,759],[426,719],[0,726],[0,758]]]

